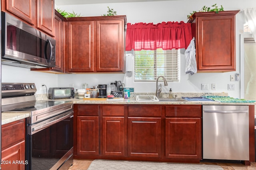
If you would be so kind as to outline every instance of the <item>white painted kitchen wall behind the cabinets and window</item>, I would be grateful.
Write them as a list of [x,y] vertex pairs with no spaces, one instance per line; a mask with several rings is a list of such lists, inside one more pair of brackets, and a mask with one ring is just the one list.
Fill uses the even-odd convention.
[[[111,3],[111,4],[88,4],[88,5],[70,5],[56,6],[67,12],[81,13],[82,16],[101,16],[107,13],[107,6],[113,8],[118,15],[126,15],[128,23],[159,23],[162,21],[187,21],[187,15],[193,10],[200,10],[204,5],[211,6],[217,3],[222,5],[224,10],[239,10],[244,8],[255,7],[255,0],[215,0],[214,2],[206,2],[205,0],[171,0],[160,2],[131,2],[131,3]],[[236,72],[240,72],[240,33],[243,31],[245,20],[242,14],[236,15]],[[216,49],[218,50],[218,49]],[[232,97],[240,97],[240,82],[230,82],[230,75],[236,72],[226,73],[198,73],[192,76],[185,75],[185,59],[184,51],[181,55],[181,78],[180,82],[168,82],[168,86],[164,86],[162,92],[168,92],[172,88],[173,92],[228,92]],[[48,81],[48,88],[51,86],[70,86],[74,84],[74,88],[81,88],[82,83],[86,82],[90,87],[97,84],[108,84],[115,80],[121,80],[126,87],[134,87],[135,92],[155,92],[155,82],[134,82],[133,78],[126,77],[125,74],[47,74],[39,72],[30,72],[25,68],[12,68],[16,75],[13,76],[8,72],[11,66],[4,66],[2,82],[29,80],[37,84]],[[23,70],[22,70],[23,69]],[[26,74],[23,74],[26,73]],[[27,77],[30,75],[32,80]],[[45,76],[46,75],[46,76]],[[42,77],[42,78],[40,78]],[[24,78],[24,79],[21,79]],[[216,84],[216,90],[201,90],[201,84]],[[235,84],[235,90],[228,90],[228,83]],[[211,89],[211,88],[210,88]],[[43,92],[38,92],[43,93]]]

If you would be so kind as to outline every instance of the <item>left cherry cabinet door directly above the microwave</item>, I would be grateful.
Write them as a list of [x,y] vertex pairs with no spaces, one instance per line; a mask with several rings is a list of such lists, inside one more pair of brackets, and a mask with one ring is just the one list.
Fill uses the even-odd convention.
[[36,0],[5,0],[5,3],[6,11],[36,25]]

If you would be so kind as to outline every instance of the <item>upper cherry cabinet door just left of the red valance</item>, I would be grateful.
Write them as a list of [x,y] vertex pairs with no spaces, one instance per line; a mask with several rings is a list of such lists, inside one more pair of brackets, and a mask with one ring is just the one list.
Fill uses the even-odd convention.
[[124,72],[124,21],[97,21],[97,72]]

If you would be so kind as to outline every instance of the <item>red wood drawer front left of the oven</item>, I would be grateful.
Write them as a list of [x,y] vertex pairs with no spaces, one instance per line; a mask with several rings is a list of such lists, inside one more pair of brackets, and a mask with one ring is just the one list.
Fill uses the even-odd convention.
[[25,140],[25,119],[2,125],[2,150]]

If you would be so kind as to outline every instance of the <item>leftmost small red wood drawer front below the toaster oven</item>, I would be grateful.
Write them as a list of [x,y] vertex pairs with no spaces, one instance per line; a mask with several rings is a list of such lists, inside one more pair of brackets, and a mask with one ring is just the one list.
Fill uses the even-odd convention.
[[77,115],[98,116],[99,106],[98,105],[78,105]]

